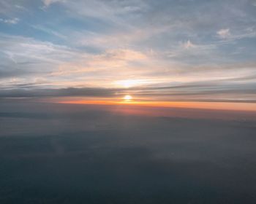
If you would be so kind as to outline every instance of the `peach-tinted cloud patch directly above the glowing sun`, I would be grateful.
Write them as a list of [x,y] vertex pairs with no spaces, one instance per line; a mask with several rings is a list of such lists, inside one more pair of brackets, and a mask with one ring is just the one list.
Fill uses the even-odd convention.
[[[147,55],[136,50],[105,50],[105,52],[95,55],[81,55],[80,59],[76,62],[62,63],[56,71],[52,72],[51,76],[78,77],[78,74],[80,74],[81,77],[82,74],[86,77],[86,75],[91,76],[93,74],[94,79],[92,81],[96,82],[102,78],[110,81],[111,79],[115,80],[121,75],[137,74],[138,71],[141,71],[139,64],[146,63],[147,60]],[[135,66],[135,63],[138,65]],[[107,76],[103,77],[104,75]],[[88,82],[88,80],[86,81]]]

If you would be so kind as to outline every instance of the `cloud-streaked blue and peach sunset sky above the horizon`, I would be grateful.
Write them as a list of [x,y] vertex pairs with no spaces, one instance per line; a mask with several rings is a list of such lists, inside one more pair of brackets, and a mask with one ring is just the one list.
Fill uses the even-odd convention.
[[1,0],[0,98],[255,107],[255,45],[255,0]]

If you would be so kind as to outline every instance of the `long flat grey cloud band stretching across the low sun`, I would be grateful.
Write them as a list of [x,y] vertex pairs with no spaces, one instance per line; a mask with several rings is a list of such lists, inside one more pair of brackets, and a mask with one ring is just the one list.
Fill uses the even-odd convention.
[[[1,89],[0,98],[31,97],[99,97],[120,98],[129,93],[134,98],[148,98],[159,101],[256,101],[255,82],[239,83],[236,79],[188,82],[180,85],[140,86],[128,88],[60,88],[42,89],[32,84],[17,85],[16,88]],[[239,95],[239,97],[237,97]]]

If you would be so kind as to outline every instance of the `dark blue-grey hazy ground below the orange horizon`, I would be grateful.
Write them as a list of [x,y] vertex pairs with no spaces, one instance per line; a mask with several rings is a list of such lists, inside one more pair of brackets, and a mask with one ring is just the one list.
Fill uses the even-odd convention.
[[209,118],[0,103],[0,203],[256,203],[256,121]]

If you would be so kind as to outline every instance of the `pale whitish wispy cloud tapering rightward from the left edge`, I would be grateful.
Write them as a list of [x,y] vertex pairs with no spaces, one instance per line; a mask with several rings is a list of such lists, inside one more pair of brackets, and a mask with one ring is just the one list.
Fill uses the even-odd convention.
[[61,63],[78,60],[83,54],[68,47],[22,36],[0,34],[0,71],[3,77],[21,76],[33,80],[47,76]]

